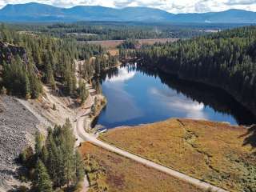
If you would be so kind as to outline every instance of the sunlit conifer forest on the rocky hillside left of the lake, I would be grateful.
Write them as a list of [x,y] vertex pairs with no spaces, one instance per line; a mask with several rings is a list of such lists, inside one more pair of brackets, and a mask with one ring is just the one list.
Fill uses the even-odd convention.
[[[86,62],[79,68],[85,78],[117,62],[101,46],[78,43],[72,38],[21,34],[5,25],[0,26],[0,42],[1,90],[24,98],[38,98],[42,82],[55,89],[58,81],[66,94],[78,94],[75,59]],[[89,62],[93,56],[95,61]]]

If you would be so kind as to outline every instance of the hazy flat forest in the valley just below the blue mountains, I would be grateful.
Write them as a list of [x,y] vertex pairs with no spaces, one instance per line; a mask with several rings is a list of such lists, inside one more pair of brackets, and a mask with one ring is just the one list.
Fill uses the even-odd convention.
[[78,41],[120,40],[142,38],[192,38],[207,30],[225,30],[238,24],[175,24],[144,22],[74,22],[52,24],[10,25],[22,33],[48,34],[56,38]]

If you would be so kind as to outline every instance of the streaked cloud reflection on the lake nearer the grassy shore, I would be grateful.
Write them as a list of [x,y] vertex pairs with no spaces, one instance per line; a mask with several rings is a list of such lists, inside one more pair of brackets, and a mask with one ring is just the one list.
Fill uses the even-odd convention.
[[174,90],[159,90],[151,87],[149,92],[154,97],[158,97],[158,102],[166,107],[167,110],[185,113],[186,118],[207,119],[207,115],[204,113],[203,103],[191,101],[183,95],[174,93]]

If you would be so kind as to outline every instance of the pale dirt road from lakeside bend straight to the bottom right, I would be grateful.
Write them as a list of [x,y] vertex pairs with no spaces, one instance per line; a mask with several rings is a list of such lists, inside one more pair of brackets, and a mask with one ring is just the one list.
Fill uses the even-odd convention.
[[[151,162],[145,158],[141,158],[137,155],[130,154],[126,150],[121,150],[115,146],[111,146],[105,142],[99,141],[94,135],[86,133],[84,130],[84,122],[86,120],[86,116],[83,114],[88,113],[88,111],[80,111],[77,115],[77,123],[76,123],[76,134],[78,136],[79,141],[88,141],[93,143],[96,146],[101,146],[102,148],[106,150],[113,151],[114,153],[121,154],[122,156],[126,158],[130,158],[136,162],[140,162],[146,166],[152,167],[155,170],[160,170],[166,174],[169,174],[175,178],[179,178],[182,181],[189,182],[193,184],[194,186],[198,186],[198,188],[201,188],[202,190],[210,190],[210,191],[216,191],[216,192],[227,192],[227,190],[223,190],[219,188],[218,186],[213,186],[210,183],[202,182],[197,178],[192,178],[186,174],[182,174],[178,172],[177,170],[172,170],[166,166],[159,165],[158,163]],[[88,122],[86,122],[88,123]]]

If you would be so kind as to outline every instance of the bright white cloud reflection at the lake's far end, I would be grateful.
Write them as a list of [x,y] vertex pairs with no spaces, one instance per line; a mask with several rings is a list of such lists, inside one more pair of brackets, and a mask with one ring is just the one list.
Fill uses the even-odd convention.
[[106,82],[125,82],[130,78],[134,78],[135,71],[128,71],[125,67],[118,69],[118,76],[106,78]]

